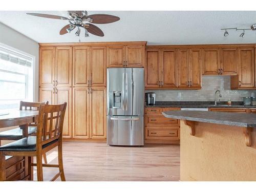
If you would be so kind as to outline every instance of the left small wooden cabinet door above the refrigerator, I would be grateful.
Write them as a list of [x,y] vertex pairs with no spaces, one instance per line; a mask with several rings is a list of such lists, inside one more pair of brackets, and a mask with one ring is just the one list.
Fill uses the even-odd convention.
[[122,68],[125,62],[125,46],[108,46],[107,67]]

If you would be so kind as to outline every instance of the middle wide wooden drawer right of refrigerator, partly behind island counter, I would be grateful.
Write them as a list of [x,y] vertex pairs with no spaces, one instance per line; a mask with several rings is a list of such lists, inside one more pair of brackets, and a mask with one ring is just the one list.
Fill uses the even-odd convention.
[[178,119],[166,118],[162,114],[145,115],[146,126],[179,126]]

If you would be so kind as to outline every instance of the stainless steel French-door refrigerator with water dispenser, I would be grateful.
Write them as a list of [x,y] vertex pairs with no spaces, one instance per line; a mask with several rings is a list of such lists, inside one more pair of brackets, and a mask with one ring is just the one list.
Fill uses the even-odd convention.
[[107,143],[144,145],[144,69],[107,71]]

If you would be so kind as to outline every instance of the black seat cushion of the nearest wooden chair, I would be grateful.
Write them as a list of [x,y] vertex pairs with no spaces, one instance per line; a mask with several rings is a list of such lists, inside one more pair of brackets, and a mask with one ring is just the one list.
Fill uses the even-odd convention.
[[[58,139],[55,139],[45,145],[42,145],[42,148],[45,148],[55,142]],[[0,146],[0,151],[12,151],[12,152],[29,152],[29,151],[36,151],[36,136],[29,136],[12,143],[8,143],[6,145]]]

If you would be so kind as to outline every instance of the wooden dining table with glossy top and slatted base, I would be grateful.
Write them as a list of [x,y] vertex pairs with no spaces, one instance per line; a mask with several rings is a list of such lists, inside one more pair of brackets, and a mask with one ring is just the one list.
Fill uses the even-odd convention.
[[[9,110],[0,113],[0,131],[6,127],[19,126],[23,137],[28,136],[28,124],[36,122],[38,111]],[[6,180],[33,180],[33,157],[6,156]]]

